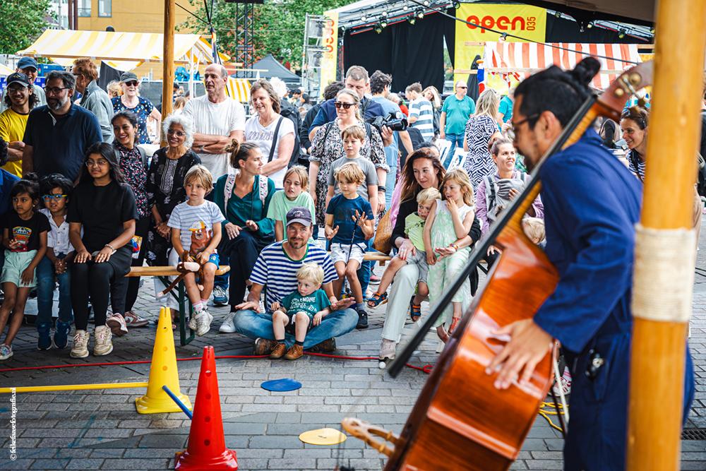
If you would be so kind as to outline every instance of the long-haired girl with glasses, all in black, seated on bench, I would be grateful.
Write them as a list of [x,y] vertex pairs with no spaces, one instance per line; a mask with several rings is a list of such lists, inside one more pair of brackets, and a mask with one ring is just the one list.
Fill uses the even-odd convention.
[[[76,317],[71,357],[88,357],[88,300],[95,317],[93,354],[113,351],[106,326],[108,294],[124,299],[120,280],[130,271],[138,210],[130,186],[124,183],[112,145],[91,145],[85,153],[78,184],[68,204],[68,238],[76,249],[71,265],[71,304]],[[82,234],[83,231],[83,234]]]

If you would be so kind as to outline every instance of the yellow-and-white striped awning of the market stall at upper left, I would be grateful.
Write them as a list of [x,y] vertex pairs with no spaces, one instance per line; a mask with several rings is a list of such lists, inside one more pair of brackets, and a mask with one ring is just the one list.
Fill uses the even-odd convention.
[[[69,65],[77,57],[101,60],[121,71],[131,70],[147,61],[162,61],[162,35],[152,32],[112,32],[45,30],[21,56],[48,57]],[[227,61],[225,54],[220,56]],[[200,35],[174,35],[174,62],[197,64],[213,61],[210,43]]]

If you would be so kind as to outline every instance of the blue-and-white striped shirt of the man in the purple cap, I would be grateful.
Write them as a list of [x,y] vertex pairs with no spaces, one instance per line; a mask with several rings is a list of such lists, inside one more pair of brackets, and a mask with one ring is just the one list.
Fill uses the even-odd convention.
[[315,244],[309,244],[306,254],[301,260],[292,260],[282,248],[282,242],[266,246],[260,252],[250,281],[258,285],[267,285],[267,308],[273,302],[280,302],[287,294],[297,290],[297,270],[304,263],[316,263],[323,268],[323,282],[328,283],[338,279],[333,262],[325,250]]

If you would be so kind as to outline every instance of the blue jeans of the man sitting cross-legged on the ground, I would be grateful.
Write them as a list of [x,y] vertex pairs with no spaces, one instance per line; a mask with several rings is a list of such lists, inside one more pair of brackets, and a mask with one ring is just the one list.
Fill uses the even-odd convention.
[[[272,330],[271,312],[259,313],[249,309],[237,311],[233,318],[233,323],[235,325],[235,331],[246,337],[261,337],[275,340],[275,334]],[[324,340],[349,333],[355,328],[357,323],[358,314],[356,314],[356,311],[353,309],[333,311],[321,320],[321,324],[306,333],[304,349],[306,350],[314,345],[318,345]],[[285,333],[285,343],[287,347],[294,345],[294,335]]]

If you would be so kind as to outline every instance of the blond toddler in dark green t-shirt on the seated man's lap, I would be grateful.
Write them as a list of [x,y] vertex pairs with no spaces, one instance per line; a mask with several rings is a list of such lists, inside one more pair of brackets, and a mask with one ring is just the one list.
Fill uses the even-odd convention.
[[[270,358],[282,356],[295,360],[304,354],[306,332],[318,326],[321,319],[330,314],[331,302],[321,289],[323,268],[315,263],[304,263],[297,270],[297,291],[287,294],[282,302],[273,302],[272,328],[277,342]],[[285,345],[285,328],[294,330],[294,345]],[[286,351],[286,354],[285,354]]]

